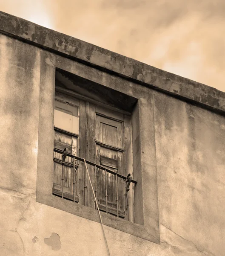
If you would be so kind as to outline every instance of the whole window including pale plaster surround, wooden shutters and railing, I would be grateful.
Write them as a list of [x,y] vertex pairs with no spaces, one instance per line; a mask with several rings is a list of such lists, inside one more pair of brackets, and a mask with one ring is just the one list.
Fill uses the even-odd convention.
[[[92,183],[97,187],[103,224],[159,243],[154,94],[116,75],[58,55],[56,59],[56,69],[44,62],[40,74],[36,201],[71,213],[71,221],[76,218],[73,215],[78,215],[100,222],[89,181],[84,184],[87,180],[84,157]],[[58,123],[60,118],[63,122]],[[66,176],[63,175],[62,193],[60,171],[64,143],[70,153],[64,163]],[[58,171],[54,171],[56,164]],[[129,173],[137,180],[136,185],[130,185],[128,200],[125,183],[121,185],[119,218],[116,192],[111,193],[116,189],[116,180],[112,178],[115,173],[118,183]],[[108,197],[103,194],[105,177],[110,189]],[[118,186],[118,197],[121,190]]]

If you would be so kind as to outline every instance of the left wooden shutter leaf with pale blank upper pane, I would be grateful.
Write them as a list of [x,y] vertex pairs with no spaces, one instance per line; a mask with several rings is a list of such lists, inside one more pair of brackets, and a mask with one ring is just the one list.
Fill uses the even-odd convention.
[[[66,102],[55,101],[54,112],[54,148],[64,150],[68,148],[68,153],[77,154],[77,137],[79,133],[78,108]],[[54,152],[54,176],[53,194],[62,195],[62,154]],[[73,199],[74,190],[74,169],[73,159],[66,157],[64,169],[64,197]],[[70,164],[71,163],[71,164]],[[76,187],[75,187],[76,189]],[[76,201],[78,197],[76,195]]]

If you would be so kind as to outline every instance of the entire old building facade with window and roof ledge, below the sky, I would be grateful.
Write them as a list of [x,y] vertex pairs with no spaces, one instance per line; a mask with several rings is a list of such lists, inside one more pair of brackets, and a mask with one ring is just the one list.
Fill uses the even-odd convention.
[[225,255],[225,93],[3,12],[0,81],[0,255]]

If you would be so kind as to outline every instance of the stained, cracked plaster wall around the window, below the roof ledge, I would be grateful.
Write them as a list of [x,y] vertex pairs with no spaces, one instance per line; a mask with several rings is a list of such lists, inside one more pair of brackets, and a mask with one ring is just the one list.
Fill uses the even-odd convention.
[[[0,255],[107,255],[99,223],[35,201],[42,51],[0,35]],[[111,255],[223,256],[225,118],[149,93],[161,244],[106,226]]]

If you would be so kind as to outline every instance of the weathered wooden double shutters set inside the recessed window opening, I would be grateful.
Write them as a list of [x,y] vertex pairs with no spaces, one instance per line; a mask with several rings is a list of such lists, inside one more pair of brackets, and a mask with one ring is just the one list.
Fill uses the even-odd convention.
[[[68,148],[70,156],[66,157],[62,171],[62,154],[59,152],[65,147]],[[130,116],[117,113],[107,106],[100,107],[88,100],[56,93],[54,148],[58,152],[54,152],[53,194],[62,196],[63,182],[63,198],[95,208],[83,162],[74,160],[73,155],[84,157],[123,176],[132,173],[125,166],[125,161],[128,161],[126,157],[132,155],[127,154],[131,150]],[[76,164],[73,164],[73,160]],[[128,219],[125,180],[96,166],[89,165],[88,170],[100,210]],[[131,189],[130,193],[132,192]],[[133,195],[130,198],[130,207],[133,207]]]

